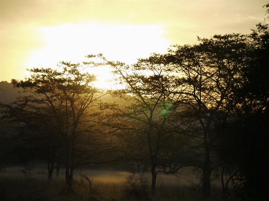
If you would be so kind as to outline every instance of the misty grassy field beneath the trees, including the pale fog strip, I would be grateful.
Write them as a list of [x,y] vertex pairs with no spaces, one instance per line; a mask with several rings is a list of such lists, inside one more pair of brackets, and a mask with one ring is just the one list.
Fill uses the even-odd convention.
[[[132,178],[132,173],[125,171],[82,170],[82,174],[90,178],[89,183],[85,179],[81,182],[80,174],[76,171],[70,189],[65,184],[64,170],[58,177],[53,175],[49,183],[44,168],[35,168],[31,178],[19,169],[21,167],[7,168],[6,172],[0,173],[1,201],[203,200],[198,189],[195,190],[189,182],[174,175],[159,174],[156,196],[152,197],[148,173],[143,176],[135,174]],[[178,176],[198,182],[193,171],[188,168],[180,171]],[[220,188],[213,188],[212,195],[206,200],[223,200]]]

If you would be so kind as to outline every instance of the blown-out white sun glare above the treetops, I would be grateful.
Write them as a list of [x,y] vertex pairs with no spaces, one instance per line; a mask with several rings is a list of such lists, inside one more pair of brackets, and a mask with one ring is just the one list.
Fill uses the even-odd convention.
[[[88,54],[103,53],[107,59],[135,63],[137,58],[145,58],[150,53],[164,53],[169,42],[163,38],[165,31],[161,25],[98,25],[66,24],[53,27],[39,27],[44,47],[31,52],[28,68],[57,68],[60,61],[73,63],[86,60]],[[97,76],[96,86],[111,88],[105,80],[112,75],[109,69],[95,69],[89,73]]]

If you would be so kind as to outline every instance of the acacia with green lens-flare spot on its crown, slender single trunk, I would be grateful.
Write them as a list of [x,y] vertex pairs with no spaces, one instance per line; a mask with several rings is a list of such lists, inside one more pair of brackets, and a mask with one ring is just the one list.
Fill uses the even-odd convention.
[[[101,62],[85,62],[94,65],[110,65],[114,69],[117,80],[124,85],[124,89],[115,90],[114,96],[126,98],[129,105],[113,105],[120,121],[113,123],[116,129],[136,130],[143,135],[147,144],[147,157],[150,161],[152,176],[151,192],[155,195],[156,176],[160,171],[157,167],[166,166],[160,156],[162,149],[169,146],[169,139],[181,135],[184,131],[179,113],[181,110],[180,94],[173,94],[177,87],[170,80],[174,76],[163,71],[163,58],[159,55],[151,59],[139,59],[134,65],[121,62],[107,61],[101,54],[88,55],[89,58],[99,57]],[[177,115],[176,115],[177,114]],[[115,119],[115,117],[114,117]],[[132,123],[132,121],[139,123]],[[131,122],[131,123],[127,123]],[[142,143],[141,141],[139,143]],[[144,158],[145,159],[145,158]]]

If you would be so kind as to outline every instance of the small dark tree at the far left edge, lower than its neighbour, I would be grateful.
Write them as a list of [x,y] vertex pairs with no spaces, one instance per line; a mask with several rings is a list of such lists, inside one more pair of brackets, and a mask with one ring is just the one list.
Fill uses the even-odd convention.
[[53,114],[40,107],[36,100],[30,95],[19,96],[9,104],[1,103],[2,113],[5,114],[2,118],[15,124],[17,129],[24,128],[24,132],[14,136],[21,141],[20,155],[27,152],[30,157],[46,160],[48,180],[51,181],[55,160],[59,160],[57,152],[63,144]]

